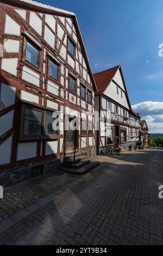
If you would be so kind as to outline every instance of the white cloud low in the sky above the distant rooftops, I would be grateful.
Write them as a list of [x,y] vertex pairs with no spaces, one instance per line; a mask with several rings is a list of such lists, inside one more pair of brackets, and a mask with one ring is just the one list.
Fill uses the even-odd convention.
[[163,133],[163,102],[144,101],[132,106],[147,121],[149,133]]

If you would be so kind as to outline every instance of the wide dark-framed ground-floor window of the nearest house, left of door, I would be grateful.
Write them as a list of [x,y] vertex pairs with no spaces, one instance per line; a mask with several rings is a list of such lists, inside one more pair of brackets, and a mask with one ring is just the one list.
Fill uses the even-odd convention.
[[23,103],[21,105],[20,139],[57,138],[58,118],[53,118],[52,114],[53,112],[47,111],[43,107]]

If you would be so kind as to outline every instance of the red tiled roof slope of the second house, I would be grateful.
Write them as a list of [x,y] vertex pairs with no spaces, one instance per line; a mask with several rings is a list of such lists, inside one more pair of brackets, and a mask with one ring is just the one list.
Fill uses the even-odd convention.
[[116,71],[120,68],[120,65],[114,66],[114,68],[107,69],[96,74],[93,74],[93,77],[97,86],[97,93],[100,94],[105,91],[108,87],[108,84],[111,82],[112,78],[116,74]]

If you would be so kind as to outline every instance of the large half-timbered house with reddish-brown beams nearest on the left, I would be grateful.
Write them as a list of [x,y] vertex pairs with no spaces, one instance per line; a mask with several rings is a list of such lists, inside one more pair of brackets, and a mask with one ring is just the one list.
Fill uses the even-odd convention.
[[[96,154],[96,84],[75,14],[29,0],[0,1],[0,13],[0,170],[9,185],[51,170],[64,141]],[[63,113],[57,131],[54,111]],[[65,129],[67,113],[78,131]]]

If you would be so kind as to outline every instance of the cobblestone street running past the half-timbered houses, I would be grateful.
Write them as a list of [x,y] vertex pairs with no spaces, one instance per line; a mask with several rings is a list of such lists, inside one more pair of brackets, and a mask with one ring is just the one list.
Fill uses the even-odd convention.
[[4,189],[1,245],[163,244],[163,150],[97,156],[84,175],[56,171]]

